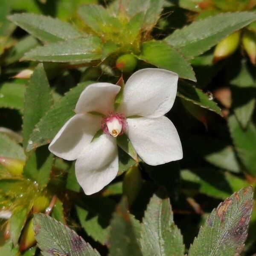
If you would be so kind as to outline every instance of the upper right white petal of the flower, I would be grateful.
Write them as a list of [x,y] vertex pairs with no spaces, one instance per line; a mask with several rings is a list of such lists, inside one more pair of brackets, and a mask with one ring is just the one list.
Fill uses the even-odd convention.
[[168,70],[146,68],[126,82],[119,112],[126,116],[159,117],[167,113],[177,94],[178,75]]

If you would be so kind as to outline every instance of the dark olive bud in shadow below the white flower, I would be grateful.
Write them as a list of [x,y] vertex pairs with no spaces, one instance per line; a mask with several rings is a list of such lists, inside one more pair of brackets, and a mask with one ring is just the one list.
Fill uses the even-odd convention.
[[123,181],[123,193],[128,198],[128,204],[131,206],[137,195],[140,192],[142,186],[142,177],[140,174],[139,165],[135,164],[131,166],[125,173]]

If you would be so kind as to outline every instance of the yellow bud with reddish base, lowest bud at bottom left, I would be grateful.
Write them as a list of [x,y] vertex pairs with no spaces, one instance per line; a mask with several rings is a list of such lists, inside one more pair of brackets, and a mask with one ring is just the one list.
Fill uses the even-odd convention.
[[20,251],[24,251],[35,244],[35,232],[33,230],[33,221],[30,219],[23,229],[20,239]]

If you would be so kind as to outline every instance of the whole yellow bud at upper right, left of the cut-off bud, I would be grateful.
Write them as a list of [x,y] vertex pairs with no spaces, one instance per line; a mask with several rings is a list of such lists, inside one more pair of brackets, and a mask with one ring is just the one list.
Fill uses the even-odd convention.
[[213,62],[215,63],[233,54],[239,45],[239,38],[240,31],[236,31],[222,39],[215,47]]

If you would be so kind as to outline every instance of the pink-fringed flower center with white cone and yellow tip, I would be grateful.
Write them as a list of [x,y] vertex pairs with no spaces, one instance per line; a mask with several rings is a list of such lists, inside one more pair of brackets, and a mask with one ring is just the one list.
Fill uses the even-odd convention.
[[122,113],[110,112],[102,118],[102,130],[105,134],[117,137],[123,134],[126,127],[126,118]]

